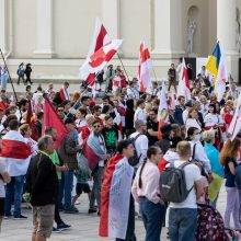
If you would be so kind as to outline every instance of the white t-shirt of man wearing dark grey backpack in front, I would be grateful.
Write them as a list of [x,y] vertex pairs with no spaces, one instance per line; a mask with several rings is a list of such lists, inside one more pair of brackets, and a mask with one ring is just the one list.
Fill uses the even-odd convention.
[[[184,161],[175,161],[174,167],[177,168],[183,164]],[[186,180],[186,188],[192,191],[190,192],[186,199],[182,203],[170,203],[171,208],[197,208],[197,196],[196,196],[196,188],[195,182],[202,179],[200,170],[195,164],[188,164],[184,168],[185,172],[185,180]]]

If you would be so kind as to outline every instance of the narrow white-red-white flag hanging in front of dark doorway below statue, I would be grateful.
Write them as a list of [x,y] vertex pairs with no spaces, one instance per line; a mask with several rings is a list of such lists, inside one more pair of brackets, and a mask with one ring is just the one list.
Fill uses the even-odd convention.
[[190,80],[188,80],[187,69],[184,58],[182,61],[182,69],[181,69],[179,87],[177,87],[177,97],[180,95],[185,96],[186,101],[191,100]]

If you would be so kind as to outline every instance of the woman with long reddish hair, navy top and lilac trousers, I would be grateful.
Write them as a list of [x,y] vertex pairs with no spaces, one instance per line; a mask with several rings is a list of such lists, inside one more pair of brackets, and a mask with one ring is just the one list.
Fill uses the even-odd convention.
[[234,176],[240,145],[241,141],[239,138],[234,138],[232,141],[230,139],[227,140],[219,156],[219,160],[225,167],[225,186],[227,191],[225,226],[226,228],[230,228],[230,216],[232,214],[234,227],[239,230],[241,229],[239,222],[239,195],[234,184]]

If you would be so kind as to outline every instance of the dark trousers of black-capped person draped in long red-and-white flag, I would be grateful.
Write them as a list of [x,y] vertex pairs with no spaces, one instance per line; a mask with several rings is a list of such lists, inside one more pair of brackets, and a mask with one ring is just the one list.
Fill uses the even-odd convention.
[[115,239],[115,241],[136,241],[135,236],[135,202],[133,195],[130,194],[129,199],[129,217],[126,230],[126,238],[125,239]]

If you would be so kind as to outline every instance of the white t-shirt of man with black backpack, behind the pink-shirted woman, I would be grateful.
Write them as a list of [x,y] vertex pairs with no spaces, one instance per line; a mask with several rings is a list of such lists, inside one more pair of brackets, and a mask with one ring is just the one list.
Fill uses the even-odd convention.
[[[130,139],[134,139],[139,133],[134,133],[130,135]],[[146,135],[140,135],[135,141],[135,148],[137,151],[137,156],[140,157],[139,163],[135,165],[135,168],[140,167],[144,163],[144,160],[147,157],[147,149],[148,149],[148,138]]]

